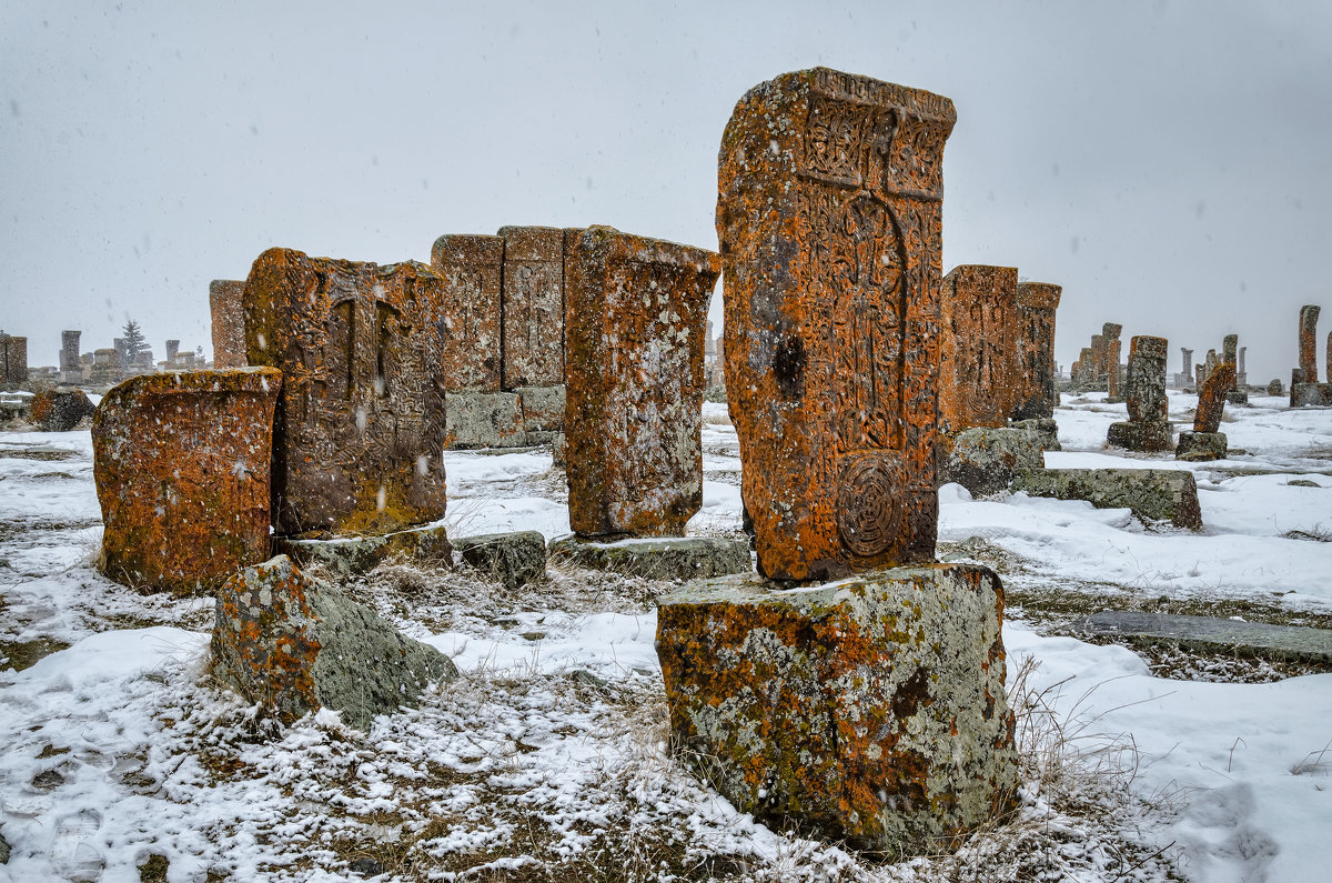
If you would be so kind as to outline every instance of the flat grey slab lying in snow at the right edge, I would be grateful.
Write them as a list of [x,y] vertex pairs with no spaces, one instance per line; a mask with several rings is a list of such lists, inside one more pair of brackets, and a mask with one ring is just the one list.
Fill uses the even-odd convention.
[[1184,647],[1225,650],[1245,656],[1332,663],[1332,631],[1323,628],[1106,610],[1079,620],[1074,630],[1092,635],[1159,638]]

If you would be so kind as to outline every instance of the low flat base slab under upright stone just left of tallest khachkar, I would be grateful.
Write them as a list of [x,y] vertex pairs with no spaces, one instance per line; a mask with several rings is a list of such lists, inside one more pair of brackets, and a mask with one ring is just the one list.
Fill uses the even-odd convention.
[[615,543],[569,536],[550,544],[550,558],[578,567],[645,579],[690,580],[751,571],[747,540],[711,536],[627,539]]

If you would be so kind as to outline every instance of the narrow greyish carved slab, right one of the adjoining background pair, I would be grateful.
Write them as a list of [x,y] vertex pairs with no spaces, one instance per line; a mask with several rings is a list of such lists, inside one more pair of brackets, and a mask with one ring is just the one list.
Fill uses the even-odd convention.
[[502,227],[503,388],[565,380],[565,231]]

